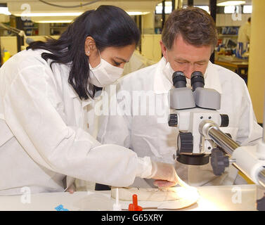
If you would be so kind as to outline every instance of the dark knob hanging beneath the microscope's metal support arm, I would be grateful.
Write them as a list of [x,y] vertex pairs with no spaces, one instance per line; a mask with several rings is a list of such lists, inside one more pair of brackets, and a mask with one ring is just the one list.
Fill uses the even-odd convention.
[[219,148],[214,148],[211,154],[211,165],[214,175],[220,176],[224,173],[224,169],[229,166],[228,156],[225,156]]

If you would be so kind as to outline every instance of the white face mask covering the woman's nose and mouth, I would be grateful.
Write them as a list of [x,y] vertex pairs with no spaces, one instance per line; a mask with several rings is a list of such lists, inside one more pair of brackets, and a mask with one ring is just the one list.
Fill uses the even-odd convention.
[[[101,57],[101,54],[99,55]],[[114,65],[111,65],[106,60],[101,58],[101,63],[92,68],[89,63],[90,68],[90,79],[89,82],[98,87],[108,86],[114,83],[119,77],[122,77],[123,68],[118,68]]]

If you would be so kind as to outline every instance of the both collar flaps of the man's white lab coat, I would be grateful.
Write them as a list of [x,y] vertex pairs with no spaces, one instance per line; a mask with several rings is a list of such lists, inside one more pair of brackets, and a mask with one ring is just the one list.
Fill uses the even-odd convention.
[[[155,94],[167,94],[168,91],[173,87],[172,80],[169,80],[169,77],[164,70],[166,65],[167,60],[164,57],[162,57],[161,60],[157,63],[153,85]],[[222,93],[218,70],[210,61],[207,65],[204,77],[205,88],[215,89],[220,94]]]

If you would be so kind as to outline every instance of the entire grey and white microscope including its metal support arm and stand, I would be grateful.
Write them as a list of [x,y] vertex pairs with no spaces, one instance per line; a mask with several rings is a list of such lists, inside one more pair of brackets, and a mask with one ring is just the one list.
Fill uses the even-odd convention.
[[[220,114],[221,95],[204,87],[202,72],[190,77],[191,89],[181,71],[172,75],[174,88],[169,91],[169,127],[178,127],[176,160],[186,165],[211,163],[216,176],[229,165],[235,166],[255,184],[265,188],[265,134],[256,146],[240,146],[220,127],[228,127],[229,117]],[[265,119],[264,119],[265,120]],[[265,122],[265,121],[264,121]],[[265,195],[257,201],[257,210],[265,210]]]

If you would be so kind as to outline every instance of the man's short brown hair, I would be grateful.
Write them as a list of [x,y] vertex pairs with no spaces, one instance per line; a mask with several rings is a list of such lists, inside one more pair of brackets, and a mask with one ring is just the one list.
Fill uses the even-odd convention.
[[171,49],[176,37],[194,46],[216,46],[217,31],[212,16],[197,7],[181,8],[173,11],[162,30],[162,41],[167,49]]

